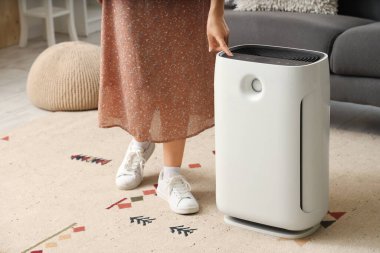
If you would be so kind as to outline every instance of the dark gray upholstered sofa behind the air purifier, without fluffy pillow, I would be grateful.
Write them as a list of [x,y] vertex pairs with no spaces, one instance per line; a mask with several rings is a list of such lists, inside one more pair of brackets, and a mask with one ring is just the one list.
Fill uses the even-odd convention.
[[338,15],[226,7],[229,46],[254,43],[325,52],[332,100],[380,106],[380,0],[338,4]]

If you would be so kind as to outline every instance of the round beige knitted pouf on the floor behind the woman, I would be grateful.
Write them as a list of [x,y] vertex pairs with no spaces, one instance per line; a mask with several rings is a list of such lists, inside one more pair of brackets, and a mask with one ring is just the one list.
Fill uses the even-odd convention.
[[33,63],[26,92],[32,104],[49,111],[98,107],[100,47],[82,41],[56,44]]

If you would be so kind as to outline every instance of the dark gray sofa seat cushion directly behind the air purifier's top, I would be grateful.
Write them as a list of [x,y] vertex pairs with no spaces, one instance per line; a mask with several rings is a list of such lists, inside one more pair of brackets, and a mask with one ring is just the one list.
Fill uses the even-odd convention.
[[225,10],[229,45],[269,44],[330,53],[338,34],[373,22],[343,15]]

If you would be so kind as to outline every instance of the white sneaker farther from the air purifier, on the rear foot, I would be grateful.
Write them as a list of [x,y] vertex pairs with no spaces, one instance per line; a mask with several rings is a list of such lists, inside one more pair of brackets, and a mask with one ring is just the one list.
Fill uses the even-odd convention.
[[129,143],[124,159],[116,174],[116,185],[121,190],[131,190],[140,185],[144,176],[145,162],[152,155],[155,143],[149,143],[144,150],[142,147]]

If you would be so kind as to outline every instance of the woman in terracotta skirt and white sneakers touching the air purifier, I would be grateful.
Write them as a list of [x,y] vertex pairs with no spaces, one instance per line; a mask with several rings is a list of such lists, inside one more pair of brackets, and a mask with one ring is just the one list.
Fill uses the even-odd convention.
[[224,0],[99,1],[99,127],[133,136],[116,185],[140,185],[155,143],[163,143],[157,195],[176,213],[198,212],[180,167],[186,138],[214,126],[215,53],[232,55]]

